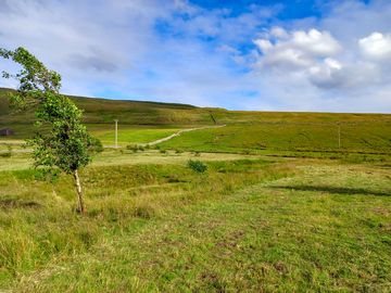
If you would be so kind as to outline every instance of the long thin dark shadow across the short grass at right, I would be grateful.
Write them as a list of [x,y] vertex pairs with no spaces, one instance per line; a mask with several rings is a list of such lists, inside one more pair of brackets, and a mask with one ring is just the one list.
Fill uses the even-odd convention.
[[370,191],[362,188],[338,188],[338,187],[327,187],[327,186],[278,186],[270,187],[274,189],[288,189],[288,190],[297,190],[297,191],[318,191],[318,192],[327,192],[327,193],[336,193],[336,194],[349,194],[349,195],[375,195],[375,196],[391,196],[391,192],[378,192]]

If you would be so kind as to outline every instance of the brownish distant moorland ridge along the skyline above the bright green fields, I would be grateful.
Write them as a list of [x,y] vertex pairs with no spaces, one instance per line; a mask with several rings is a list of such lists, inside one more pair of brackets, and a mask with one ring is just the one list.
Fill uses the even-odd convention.
[[[33,110],[12,113],[9,109],[7,94],[10,91],[0,88],[0,126],[30,124]],[[391,123],[390,114],[228,111],[176,103],[70,98],[85,111],[86,124],[111,124],[113,119],[128,125]]]

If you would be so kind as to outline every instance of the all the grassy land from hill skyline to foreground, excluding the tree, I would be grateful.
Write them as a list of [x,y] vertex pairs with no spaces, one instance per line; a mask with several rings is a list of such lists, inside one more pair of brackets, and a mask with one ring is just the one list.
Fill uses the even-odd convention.
[[0,292],[391,291],[391,115],[73,98],[108,146],[119,119],[80,216],[70,176],[30,168],[33,117],[4,94]]

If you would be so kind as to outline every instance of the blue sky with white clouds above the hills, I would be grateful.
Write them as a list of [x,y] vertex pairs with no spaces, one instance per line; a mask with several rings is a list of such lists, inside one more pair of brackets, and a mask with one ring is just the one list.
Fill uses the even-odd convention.
[[0,47],[68,94],[391,113],[390,0],[0,0]]

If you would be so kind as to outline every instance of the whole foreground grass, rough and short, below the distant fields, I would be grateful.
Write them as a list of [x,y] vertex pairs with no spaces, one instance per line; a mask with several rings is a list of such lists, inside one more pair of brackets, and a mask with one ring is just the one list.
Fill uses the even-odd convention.
[[[201,156],[202,158],[202,156]],[[388,165],[97,166],[88,215],[63,177],[0,179],[0,288],[16,292],[387,291]],[[121,184],[117,184],[121,182]]]

